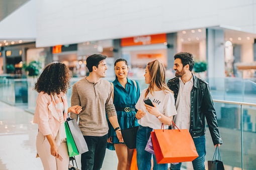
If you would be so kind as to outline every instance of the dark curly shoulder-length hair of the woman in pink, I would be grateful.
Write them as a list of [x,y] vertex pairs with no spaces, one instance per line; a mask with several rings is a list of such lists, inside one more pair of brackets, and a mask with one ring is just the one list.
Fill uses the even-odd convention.
[[68,88],[70,88],[69,69],[63,63],[54,62],[44,68],[33,90],[54,95],[66,93]]

